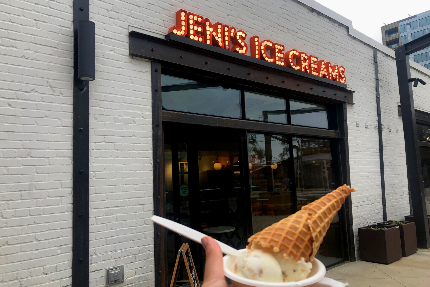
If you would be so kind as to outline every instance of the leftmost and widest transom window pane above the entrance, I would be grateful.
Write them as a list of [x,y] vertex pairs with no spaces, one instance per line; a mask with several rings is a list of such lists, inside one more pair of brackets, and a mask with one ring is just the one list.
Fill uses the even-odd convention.
[[240,90],[161,75],[163,109],[241,117]]

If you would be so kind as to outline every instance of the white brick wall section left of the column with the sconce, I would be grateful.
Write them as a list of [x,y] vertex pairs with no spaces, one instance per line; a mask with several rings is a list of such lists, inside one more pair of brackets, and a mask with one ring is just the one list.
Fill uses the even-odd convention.
[[73,1],[0,1],[0,285],[71,284]]

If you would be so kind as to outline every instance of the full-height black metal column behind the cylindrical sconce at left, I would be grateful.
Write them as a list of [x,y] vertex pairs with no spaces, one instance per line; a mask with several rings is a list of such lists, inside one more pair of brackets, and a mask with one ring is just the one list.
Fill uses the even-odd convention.
[[89,20],[89,0],[74,0],[73,259],[72,286],[89,286],[89,82],[78,79],[78,23]]

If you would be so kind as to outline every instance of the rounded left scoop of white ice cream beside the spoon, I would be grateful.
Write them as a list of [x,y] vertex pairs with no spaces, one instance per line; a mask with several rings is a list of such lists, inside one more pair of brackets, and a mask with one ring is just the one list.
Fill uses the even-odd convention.
[[233,272],[252,280],[283,282],[279,262],[270,253],[258,249],[246,250],[237,257]]

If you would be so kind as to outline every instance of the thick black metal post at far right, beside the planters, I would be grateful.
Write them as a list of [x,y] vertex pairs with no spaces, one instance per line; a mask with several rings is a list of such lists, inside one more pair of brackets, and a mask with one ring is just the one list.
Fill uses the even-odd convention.
[[[430,42],[428,44],[430,44]],[[424,182],[421,172],[414,97],[412,94],[412,83],[408,82],[408,79],[411,77],[409,57],[405,52],[405,45],[399,46],[395,52],[400,105],[402,107],[403,133],[405,137],[406,168],[411,189],[418,248],[429,248],[430,235],[429,226],[427,224],[427,209],[424,198]]]

